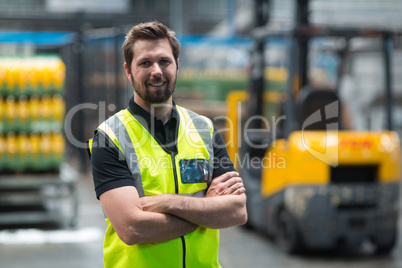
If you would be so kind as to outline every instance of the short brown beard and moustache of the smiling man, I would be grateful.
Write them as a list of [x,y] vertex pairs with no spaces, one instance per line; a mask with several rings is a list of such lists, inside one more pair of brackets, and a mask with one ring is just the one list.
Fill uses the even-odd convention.
[[[154,91],[151,90],[146,83],[144,83],[143,85],[137,83],[134,80],[133,75],[131,74],[131,81],[132,81],[131,85],[134,88],[134,92],[146,103],[149,104],[164,103],[173,95],[174,89],[176,87],[176,80],[177,80],[176,78],[174,79],[174,81],[166,80],[165,82],[166,84],[163,90]],[[153,83],[160,83],[162,82],[162,78],[153,79],[152,81]]]

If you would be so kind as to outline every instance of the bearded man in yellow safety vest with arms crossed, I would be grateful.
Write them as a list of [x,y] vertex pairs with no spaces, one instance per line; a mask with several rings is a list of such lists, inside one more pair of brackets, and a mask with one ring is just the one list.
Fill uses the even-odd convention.
[[220,267],[218,229],[247,220],[221,135],[172,100],[179,50],[156,21],[134,26],[123,44],[134,97],[90,141],[105,267]]

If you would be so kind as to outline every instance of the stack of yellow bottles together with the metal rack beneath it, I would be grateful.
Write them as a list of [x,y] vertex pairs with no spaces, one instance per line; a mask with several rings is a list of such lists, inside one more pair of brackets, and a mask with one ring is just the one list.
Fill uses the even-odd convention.
[[0,56],[0,229],[74,226],[77,175],[64,162],[65,65]]

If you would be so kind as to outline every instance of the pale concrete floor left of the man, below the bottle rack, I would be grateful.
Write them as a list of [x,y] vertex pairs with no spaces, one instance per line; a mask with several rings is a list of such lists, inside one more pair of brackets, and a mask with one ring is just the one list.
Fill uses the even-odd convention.
[[[80,201],[77,230],[7,232],[14,242],[2,244],[0,239],[0,268],[103,267],[102,245],[106,223],[91,177],[81,176],[77,188]],[[0,238],[2,234],[4,237],[4,233],[0,232]],[[35,237],[39,241],[35,242]]]

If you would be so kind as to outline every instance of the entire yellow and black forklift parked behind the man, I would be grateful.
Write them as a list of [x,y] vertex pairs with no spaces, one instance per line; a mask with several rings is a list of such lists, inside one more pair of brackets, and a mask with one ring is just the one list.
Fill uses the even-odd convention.
[[[400,194],[400,141],[392,131],[393,33],[313,27],[308,0],[299,0],[294,29],[260,27],[253,37],[250,90],[232,92],[227,100],[228,152],[246,187],[246,226],[272,236],[288,253],[358,248],[365,241],[374,245],[374,253],[389,253],[397,239]],[[261,60],[266,41],[278,37],[289,44],[287,92],[282,94],[264,90]],[[381,40],[387,130],[345,129],[337,90],[309,84],[310,46],[324,37],[345,41],[339,55],[348,53],[353,38]]]

